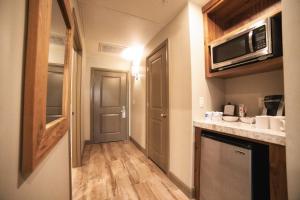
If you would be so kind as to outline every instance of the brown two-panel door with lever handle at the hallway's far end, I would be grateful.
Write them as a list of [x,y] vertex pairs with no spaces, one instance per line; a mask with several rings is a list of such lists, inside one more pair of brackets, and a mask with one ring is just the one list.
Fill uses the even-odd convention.
[[127,74],[92,71],[93,142],[127,139]]

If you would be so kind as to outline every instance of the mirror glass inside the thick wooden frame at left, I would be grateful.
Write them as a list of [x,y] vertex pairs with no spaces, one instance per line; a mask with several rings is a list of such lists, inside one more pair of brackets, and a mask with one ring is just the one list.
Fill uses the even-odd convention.
[[52,3],[46,123],[63,115],[63,79],[67,26],[57,1]]

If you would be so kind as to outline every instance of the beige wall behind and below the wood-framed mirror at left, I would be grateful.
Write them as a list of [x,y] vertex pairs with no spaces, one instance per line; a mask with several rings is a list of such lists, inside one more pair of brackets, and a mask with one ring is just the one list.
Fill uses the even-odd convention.
[[26,2],[0,3],[0,199],[70,198],[68,134],[21,185],[19,176]]

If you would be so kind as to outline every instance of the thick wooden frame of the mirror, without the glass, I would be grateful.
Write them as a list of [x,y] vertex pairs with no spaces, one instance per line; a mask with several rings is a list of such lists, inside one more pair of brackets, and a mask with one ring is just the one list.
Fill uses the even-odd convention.
[[[62,117],[46,124],[52,2],[66,23]],[[69,130],[73,19],[69,0],[29,0],[23,93],[21,172],[29,176]]]

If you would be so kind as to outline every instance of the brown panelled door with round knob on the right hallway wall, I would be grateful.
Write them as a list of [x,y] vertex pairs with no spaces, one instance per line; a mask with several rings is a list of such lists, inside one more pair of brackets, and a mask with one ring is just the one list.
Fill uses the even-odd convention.
[[148,156],[168,170],[168,69],[167,45],[147,58],[147,143]]

